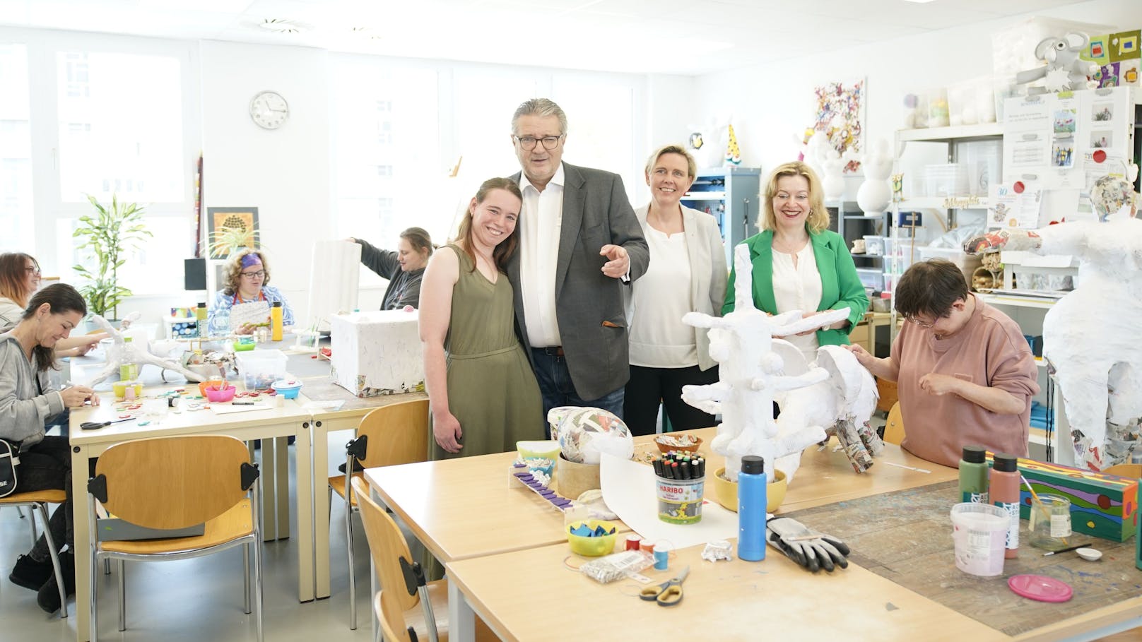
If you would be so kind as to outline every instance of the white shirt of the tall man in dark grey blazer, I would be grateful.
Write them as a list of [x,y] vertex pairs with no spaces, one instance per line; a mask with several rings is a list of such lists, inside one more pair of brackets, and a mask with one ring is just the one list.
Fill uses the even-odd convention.
[[528,344],[563,345],[555,316],[555,271],[563,225],[563,163],[542,192],[520,175],[523,208],[520,212],[520,287]]

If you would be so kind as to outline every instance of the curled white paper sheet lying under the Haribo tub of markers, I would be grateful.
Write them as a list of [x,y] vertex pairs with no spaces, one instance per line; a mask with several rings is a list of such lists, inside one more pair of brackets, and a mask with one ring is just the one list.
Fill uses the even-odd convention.
[[738,537],[738,515],[723,508],[714,498],[711,473],[706,475],[702,521],[697,524],[668,524],[658,519],[653,467],[606,454],[603,454],[600,466],[606,507],[643,539],[687,548],[715,539]]

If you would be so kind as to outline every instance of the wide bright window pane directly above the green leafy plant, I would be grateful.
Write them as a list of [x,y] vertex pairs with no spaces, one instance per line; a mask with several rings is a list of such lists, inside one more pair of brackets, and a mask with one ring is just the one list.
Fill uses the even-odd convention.
[[56,61],[61,200],[184,201],[179,59],[61,51]]

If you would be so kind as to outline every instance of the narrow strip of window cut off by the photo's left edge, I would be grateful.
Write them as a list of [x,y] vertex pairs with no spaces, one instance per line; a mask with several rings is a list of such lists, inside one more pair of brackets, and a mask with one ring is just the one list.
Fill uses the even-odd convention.
[[0,45],[0,251],[32,251],[32,139],[27,48]]

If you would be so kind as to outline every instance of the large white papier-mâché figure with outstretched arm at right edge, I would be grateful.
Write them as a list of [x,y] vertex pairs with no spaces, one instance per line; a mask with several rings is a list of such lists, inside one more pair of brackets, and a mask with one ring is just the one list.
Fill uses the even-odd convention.
[[1027,250],[1078,260],[1075,290],[1043,319],[1043,356],[1067,403],[1075,463],[1094,471],[1129,462],[1140,449],[1142,220],[1133,218],[1136,195],[1129,196],[1100,202],[1092,194],[1103,222],[1000,230],[964,243],[970,252]]

